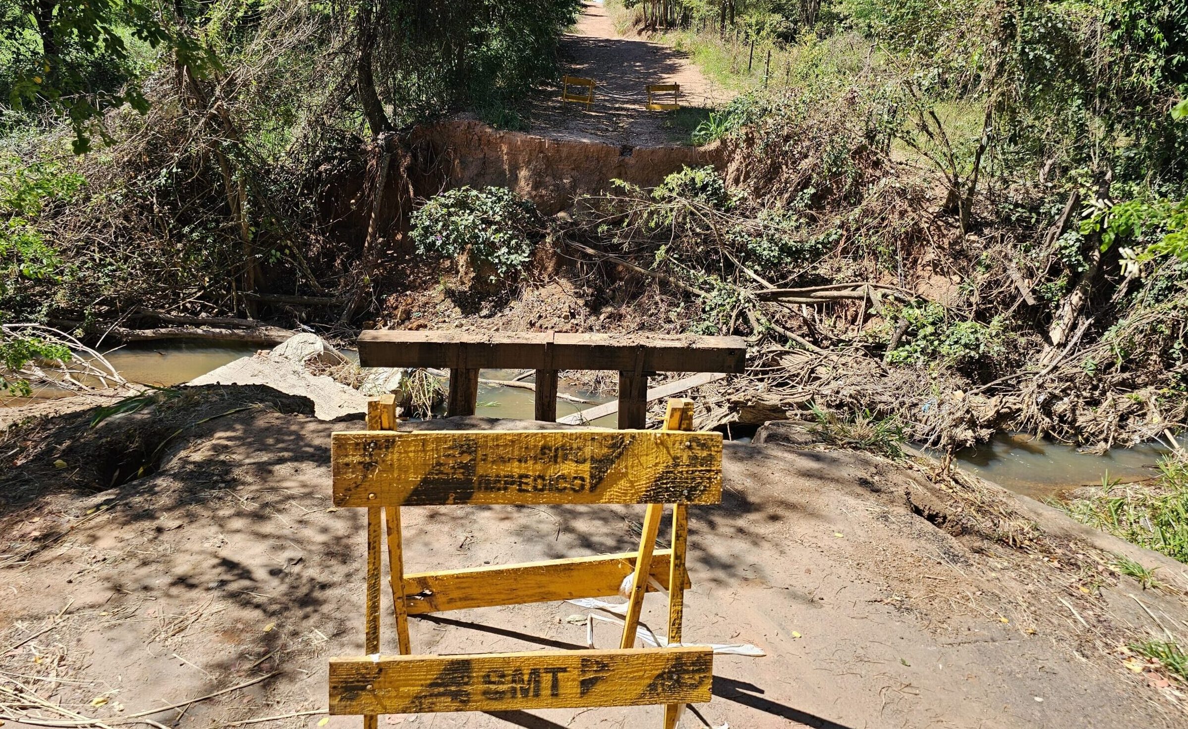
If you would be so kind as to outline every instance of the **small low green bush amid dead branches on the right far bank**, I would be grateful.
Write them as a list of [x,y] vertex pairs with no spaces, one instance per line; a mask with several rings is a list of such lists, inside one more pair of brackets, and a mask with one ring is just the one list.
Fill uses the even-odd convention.
[[898,308],[908,322],[909,341],[887,356],[893,364],[962,366],[1006,353],[1006,332],[997,317],[990,324],[949,322],[948,311],[936,302]]

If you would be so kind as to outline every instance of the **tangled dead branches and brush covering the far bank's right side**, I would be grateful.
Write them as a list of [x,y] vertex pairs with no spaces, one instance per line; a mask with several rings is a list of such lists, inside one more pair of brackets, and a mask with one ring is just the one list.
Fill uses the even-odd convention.
[[815,404],[948,451],[997,430],[1106,449],[1182,427],[1188,265],[1139,275],[1117,252],[1085,254],[1107,217],[1075,220],[1079,192],[1055,220],[1006,220],[1004,198],[1048,204],[1022,183],[975,195],[962,232],[871,103],[772,102],[723,138],[725,173],[620,183],[582,198],[555,240],[599,286],[647,281],[668,325],[750,338],[716,421]]

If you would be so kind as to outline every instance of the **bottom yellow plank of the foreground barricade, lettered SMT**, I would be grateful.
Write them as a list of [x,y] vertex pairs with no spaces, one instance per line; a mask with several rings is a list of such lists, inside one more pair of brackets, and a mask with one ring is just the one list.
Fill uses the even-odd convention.
[[331,658],[330,714],[638,706],[710,699],[708,647]]

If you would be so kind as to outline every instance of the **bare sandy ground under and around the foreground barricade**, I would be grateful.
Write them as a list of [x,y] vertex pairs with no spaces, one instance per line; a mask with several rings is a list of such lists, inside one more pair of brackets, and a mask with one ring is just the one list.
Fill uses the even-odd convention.
[[[252,725],[312,729],[324,717],[327,658],[362,652],[364,514],[329,500],[330,432],[361,423],[203,407],[228,414],[172,438],[150,476],[96,493],[58,469],[5,492],[6,729],[32,725],[13,721],[13,692],[26,705],[110,725],[173,704],[143,718],[209,728],[284,716]],[[135,430],[152,418],[150,408],[101,427]],[[419,425],[448,426],[525,424]],[[1119,583],[1075,538],[1044,550],[986,539],[961,526],[959,501],[874,457],[728,443],[725,475],[722,505],[690,509],[685,640],[751,642],[767,657],[718,657],[713,702],[682,727],[1184,725],[1177,686],[1143,666],[1127,670],[1116,652],[1157,630],[1152,617],[1182,634],[1182,594]],[[6,480],[19,482],[13,473]],[[626,551],[642,515],[643,507],[406,508],[407,569]],[[1176,579],[1157,556],[1117,546]],[[437,654],[583,647],[584,625],[565,620],[581,611],[542,603],[413,619],[412,642]],[[663,626],[663,614],[662,597],[649,596],[645,622]],[[614,629],[599,627],[595,642],[613,647]],[[383,649],[394,646],[388,621]],[[642,706],[390,716],[380,727],[659,718],[659,708]]]

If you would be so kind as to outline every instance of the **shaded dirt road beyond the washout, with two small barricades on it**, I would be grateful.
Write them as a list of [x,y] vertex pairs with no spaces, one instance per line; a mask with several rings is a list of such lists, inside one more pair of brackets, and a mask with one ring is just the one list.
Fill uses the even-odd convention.
[[674,144],[683,134],[665,125],[668,114],[644,108],[646,84],[681,84],[681,102],[690,107],[716,106],[729,99],[684,53],[620,37],[601,4],[584,5],[575,32],[561,43],[561,58],[564,74],[593,78],[598,84],[594,103],[586,110],[577,103],[562,103],[560,93],[542,95],[530,115],[533,134],[627,146]]

